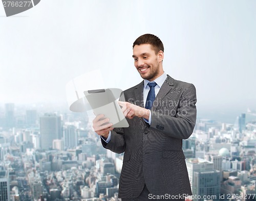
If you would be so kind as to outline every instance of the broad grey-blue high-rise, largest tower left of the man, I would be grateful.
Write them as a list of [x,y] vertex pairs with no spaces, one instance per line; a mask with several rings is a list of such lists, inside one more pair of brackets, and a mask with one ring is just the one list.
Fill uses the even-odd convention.
[[40,117],[41,149],[52,147],[54,139],[61,139],[61,120],[56,114],[45,114]]

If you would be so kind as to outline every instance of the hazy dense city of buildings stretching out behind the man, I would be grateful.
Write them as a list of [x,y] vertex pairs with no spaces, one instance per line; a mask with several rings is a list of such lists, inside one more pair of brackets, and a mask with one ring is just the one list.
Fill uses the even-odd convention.
[[[2,190],[8,201],[118,201],[123,154],[104,149],[82,113],[14,109],[6,104],[0,116],[1,181],[10,181]],[[227,200],[231,194],[255,200],[256,118],[246,118],[240,114],[235,124],[197,120],[182,144],[193,191],[187,201]]]

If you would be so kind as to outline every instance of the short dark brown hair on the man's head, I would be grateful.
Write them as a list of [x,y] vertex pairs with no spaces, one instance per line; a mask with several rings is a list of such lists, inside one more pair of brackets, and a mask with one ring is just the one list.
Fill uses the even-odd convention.
[[164,51],[162,41],[153,34],[144,34],[139,38],[137,38],[133,43],[133,48],[135,45],[140,45],[140,44],[151,44],[156,54],[159,53],[159,51]]

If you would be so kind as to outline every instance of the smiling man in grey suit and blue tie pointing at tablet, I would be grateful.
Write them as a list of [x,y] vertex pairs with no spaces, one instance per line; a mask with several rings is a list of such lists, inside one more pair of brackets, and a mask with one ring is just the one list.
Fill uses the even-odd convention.
[[[164,47],[152,34],[133,44],[134,65],[144,80],[123,92],[119,102],[129,128],[110,128],[98,115],[93,128],[102,145],[123,153],[119,182],[122,200],[184,200],[191,195],[182,151],[196,123],[196,89],[163,71]],[[104,125],[102,125],[104,124]],[[176,197],[175,197],[176,196]]]

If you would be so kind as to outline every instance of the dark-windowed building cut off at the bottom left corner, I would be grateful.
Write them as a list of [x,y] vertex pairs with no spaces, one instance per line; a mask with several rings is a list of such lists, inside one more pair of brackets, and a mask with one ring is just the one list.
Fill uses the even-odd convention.
[[0,200],[10,201],[10,185],[8,171],[0,171]]

